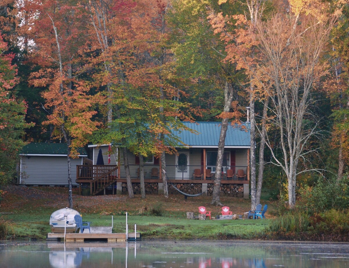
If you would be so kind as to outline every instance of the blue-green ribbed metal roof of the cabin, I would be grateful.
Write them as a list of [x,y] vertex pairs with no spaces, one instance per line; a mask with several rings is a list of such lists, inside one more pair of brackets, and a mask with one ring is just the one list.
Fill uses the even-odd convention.
[[[218,147],[221,134],[221,122],[183,122],[185,126],[198,132],[173,131],[179,139],[190,147]],[[250,148],[250,123],[228,124],[225,138],[226,148]]]

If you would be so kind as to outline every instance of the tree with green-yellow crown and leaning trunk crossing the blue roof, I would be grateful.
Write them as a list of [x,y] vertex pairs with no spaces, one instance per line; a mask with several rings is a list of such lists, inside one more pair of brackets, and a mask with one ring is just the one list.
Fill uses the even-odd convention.
[[[183,70],[184,77],[191,78],[202,90],[202,84],[207,83],[211,88],[217,89],[221,100],[220,114],[217,116],[222,120],[220,138],[218,141],[218,153],[216,162],[216,173],[214,180],[213,196],[211,204],[221,205],[220,184],[222,179],[222,163],[224,154],[225,136],[228,122],[241,116],[237,109],[236,98],[239,89],[235,66],[225,62],[224,43],[215,35],[208,21],[214,20],[215,14],[222,8],[217,1],[174,1],[173,2],[173,28],[178,28],[176,42],[173,51],[176,54],[176,68]],[[236,6],[236,10],[238,7]],[[233,10],[224,9],[229,13]],[[211,14],[211,16],[210,16]],[[232,27],[232,25],[229,25]],[[198,83],[198,82],[201,83]],[[203,83],[204,82],[204,83]],[[235,102],[233,102],[235,100]]]

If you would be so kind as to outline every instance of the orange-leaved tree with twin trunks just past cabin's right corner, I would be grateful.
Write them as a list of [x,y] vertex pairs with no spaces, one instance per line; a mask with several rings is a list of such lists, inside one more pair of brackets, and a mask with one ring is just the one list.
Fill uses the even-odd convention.
[[[256,88],[254,83],[255,68],[258,65],[258,42],[255,40],[254,31],[255,24],[262,17],[263,10],[266,8],[265,0],[257,1],[227,1],[219,0],[218,3],[223,6],[231,8],[232,4],[239,3],[246,7],[243,14],[232,14],[230,16],[223,15],[223,13],[211,14],[211,24],[215,29],[215,32],[219,34],[220,39],[225,43],[227,62],[237,65],[237,69],[243,70],[248,77],[249,81],[240,81],[245,85],[248,99],[249,99],[249,112],[250,112],[250,170],[251,170],[251,209],[254,210],[255,206],[260,202],[260,193],[263,180],[264,169],[264,145],[266,134],[266,121],[261,120],[261,128],[258,132],[260,134],[260,151],[259,151],[259,177],[258,188],[256,187],[256,127],[257,127],[257,115],[255,109],[255,103],[258,100],[258,94],[260,91]],[[228,25],[236,25],[233,31],[227,28]],[[260,118],[265,118],[267,114],[268,98],[263,105],[263,114]],[[257,118],[256,118],[257,117]],[[258,129],[258,128],[257,128]],[[259,130],[259,129],[258,129]]]

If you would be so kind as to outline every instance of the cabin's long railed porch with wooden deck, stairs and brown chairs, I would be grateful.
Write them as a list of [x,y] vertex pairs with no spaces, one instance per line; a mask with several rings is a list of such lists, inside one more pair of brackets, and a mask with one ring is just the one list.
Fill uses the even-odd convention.
[[[248,166],[223,166],[221,184],[240,184],[248,185]],[[173,184],[213,184],[216,172],[215,167],[205,165],[166,165],[168,183]],[[126,176],[121,176],[119,172],[121,166],[117,165],[77,165],[76,166],[76,183],[80,185],[80,194],[82,186],[88,187],[90,195],[96,195],[111,185],[117,185],[117,193],[122,191],[118,189],[126,183]],[[162,185],[159,171],[159,165],[149,164],[143,166],[144,183]],[[204,172],[205,170],[205,172]],[[237,171],[242,170],[244,176],[238,177]],[[129,165],[132,184],[140,184],[140,166]],[[207,189],[202,187],[202,189]],[[112,187],[112,194],[114,194]],[[161,187],[159,187],[161,188]]]

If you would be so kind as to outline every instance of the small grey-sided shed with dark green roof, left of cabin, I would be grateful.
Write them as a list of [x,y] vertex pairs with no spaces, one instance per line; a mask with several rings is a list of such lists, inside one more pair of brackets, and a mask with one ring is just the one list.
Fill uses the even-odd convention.
[[[72,184],[78,186],[76,166],[91,163],[84,148],[79,148],[79,157],[72,158]],[[20,153],[18,166],[20,185],[68,185],[68,162],[66,143],[36,143],[25,145]]]

